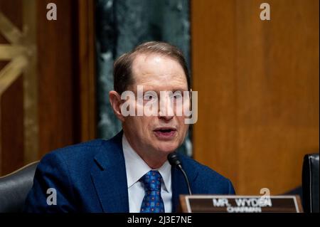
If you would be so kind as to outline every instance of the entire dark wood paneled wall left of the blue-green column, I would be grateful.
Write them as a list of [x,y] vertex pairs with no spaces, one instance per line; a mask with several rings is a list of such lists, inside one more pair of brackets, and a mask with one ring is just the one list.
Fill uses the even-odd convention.
[[[57,6],[56,21],[48,21],[46,18],[49,3]],[[23,69],[25,71],[0,94],[1,176],[28,162],[41,159],[53,149],[94,139],[96,121],[95,1],[0,0],[0,7],[1,15],[21,30],[23,40],[28,40],[30,36],[36,37],[37,59],[33,67],[33,73],[36,74],[36,100],[26,99],[23,92],[23,86],[29,82],[26,70],[33,63],[28,58]],[[35,29],[29,28],[27,33],[24,28],[31,16],[34,16],[35,21],[28,26]],[[8,43],[0,32],[0,45]],[[25,44],[24,41],[22,43]],[[10,56],[5,53],[6,46],[0,51],[0,59],[1,56]],[[0,72],[6,64],[0,61]],[[0,88],[1,85],[0,80]],[[37,122],[31,126],[37,128],[37,139],[33,141],[37,144],[26,154],[26,144],[32,145],[26,134],[23,134],[30,123],[26,120],[29,101],[36,102],[31,112],[36,112]]]

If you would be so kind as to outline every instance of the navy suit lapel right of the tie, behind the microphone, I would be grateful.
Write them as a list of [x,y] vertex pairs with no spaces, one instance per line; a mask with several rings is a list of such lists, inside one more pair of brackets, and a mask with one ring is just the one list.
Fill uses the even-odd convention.
[[[196,180],[196,176],[198,176],[198,171],[195,169],[189,169],[188,166],[183,166],[183,159],[181,159],[182,167],[188,176],[188,180],[191,187],[191,192],[193,192],[193,183]],[[186,179],[180,169],[176,167],[171,168],[171,181],[172,181],[172,212],[177,212],[178,206],[180,204],[180,195],[188,195],[188,186],[186,184]]]

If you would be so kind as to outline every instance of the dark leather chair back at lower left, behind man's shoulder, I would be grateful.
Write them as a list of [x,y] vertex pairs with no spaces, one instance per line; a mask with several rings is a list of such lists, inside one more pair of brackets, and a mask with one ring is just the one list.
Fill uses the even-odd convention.
[[21,212],[33,185],[33,176],[38,162],[0,177],[0,213]]

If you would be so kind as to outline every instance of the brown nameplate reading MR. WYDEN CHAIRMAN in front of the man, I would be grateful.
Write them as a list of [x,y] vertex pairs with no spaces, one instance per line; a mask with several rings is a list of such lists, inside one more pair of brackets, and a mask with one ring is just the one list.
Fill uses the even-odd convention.
[[180,196],[182,212],[300,213],[299,196]]

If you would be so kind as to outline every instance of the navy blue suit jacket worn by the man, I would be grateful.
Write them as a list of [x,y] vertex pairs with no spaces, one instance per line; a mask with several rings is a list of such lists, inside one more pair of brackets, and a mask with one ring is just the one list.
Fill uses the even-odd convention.
[[[230,180],[181,155],[193,194],[235,194]],[[173,211],[178,196],[188,194],[183,174],[171,168]],[[48,205],[56,190],[57,204]],[[50,198],[49,198],[50,200]],[[51,200],[52,201],[52,200]],[[38,164],[29,192],[27,212],[129,212],[122,132],[110,140],[96,139],[46,154]]]

